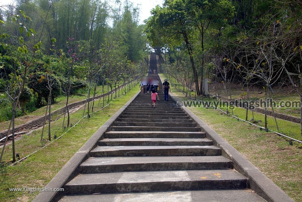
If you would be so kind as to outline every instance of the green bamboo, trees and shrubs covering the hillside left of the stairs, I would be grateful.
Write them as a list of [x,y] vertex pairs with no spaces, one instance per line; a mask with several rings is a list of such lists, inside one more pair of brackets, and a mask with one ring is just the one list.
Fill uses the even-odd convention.
[[83,117],[89,118],[97,93],[107,93],[104,106],[127,93],[146,72],[148,50],[138,16],[138,8],[128,1],[21,0],[16,6],[1,5],[0,113],[1,121],[11,120],[5,142],[13,134],[13,162],[15,117],[47,106],[44,123],[49,122],[50,141],[51,104],[59,95],[67,97],[62,127],[69,128],[70,95],[87,93]]

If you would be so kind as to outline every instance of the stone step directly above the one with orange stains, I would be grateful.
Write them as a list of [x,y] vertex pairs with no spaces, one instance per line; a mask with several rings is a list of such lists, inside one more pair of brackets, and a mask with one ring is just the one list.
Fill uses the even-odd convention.
[[232,169],[223,156],[133,156],[93,157],[80,165],[81,173]]

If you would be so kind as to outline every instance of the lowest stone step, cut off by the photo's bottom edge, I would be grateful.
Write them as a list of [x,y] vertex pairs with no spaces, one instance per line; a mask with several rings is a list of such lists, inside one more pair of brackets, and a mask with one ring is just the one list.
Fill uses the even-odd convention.
[[250,189],[130,192],[116,194],[67,195],[59,202],[265,202]]

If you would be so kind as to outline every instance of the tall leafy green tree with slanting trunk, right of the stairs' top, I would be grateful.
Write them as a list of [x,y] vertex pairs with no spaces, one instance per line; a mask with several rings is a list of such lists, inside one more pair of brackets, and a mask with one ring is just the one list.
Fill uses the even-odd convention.
[[151,11],[152,16],[147,21],[145,29],[147,38],[152,46],[160,46],[161,42],[166,42],[173,46],[181,46],[185,42],[196,86],[199,90],[198,75],[194,62],[193,41],[197,32],[194,29],[194,21],[186,10],[186,0],[166,0],[163,7],[156,6]]

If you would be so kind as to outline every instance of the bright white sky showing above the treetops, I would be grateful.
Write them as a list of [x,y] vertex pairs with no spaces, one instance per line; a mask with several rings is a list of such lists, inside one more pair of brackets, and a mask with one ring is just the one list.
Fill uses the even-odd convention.
[[[152,8],[155,8],[156,5],[162,5],[164,0],[129,0],[134,6],[140,8],[140,24],[143,24],[143,21],[150,17],[150,11]],[[14,0],[1,0],[0,5],[11,5]],[[110,1],[114,3],[115,1]]]

